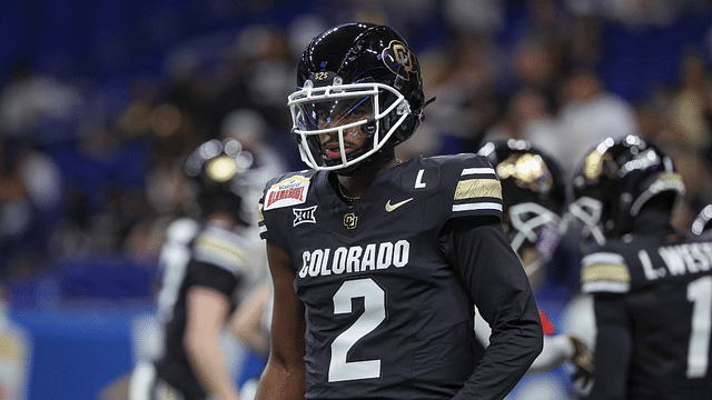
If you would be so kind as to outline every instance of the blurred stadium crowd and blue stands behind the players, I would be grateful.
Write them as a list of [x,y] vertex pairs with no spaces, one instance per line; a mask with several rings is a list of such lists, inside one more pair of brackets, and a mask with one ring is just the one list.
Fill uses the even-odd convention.
[[[192,207],[180,161],[234,136],[304,168],[286,108],[296,62],[355,20],[408,38],[438,97],[402,157],[517,138],[571,169],[602,136],[636,132],[685,179],[679,228],[712,202],[710,1],[4,1],[0,398],[122,399],[165,228]],[[562,266],[542,294],[555,323],[577,290]],[[563,399],[565,373],[523,384]]]

